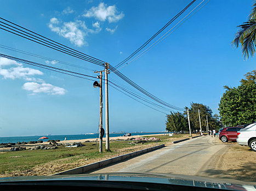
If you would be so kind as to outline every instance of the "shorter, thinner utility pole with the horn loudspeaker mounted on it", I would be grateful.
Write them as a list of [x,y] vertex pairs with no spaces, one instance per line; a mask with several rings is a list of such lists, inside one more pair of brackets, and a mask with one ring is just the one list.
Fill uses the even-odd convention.
[[[103,70],[104,71],[104,70]],[[94,71],[94,73],[100,73],[100,84],[96,84],[96,87],[100,88],[100,122],[99,122],[99,152],[103,152],[103,136],[104,136],[104,129],[103,129],[103,96],[102,96],[102,72],[103,71]],[[95,82],[94,82],[95,83]]]

